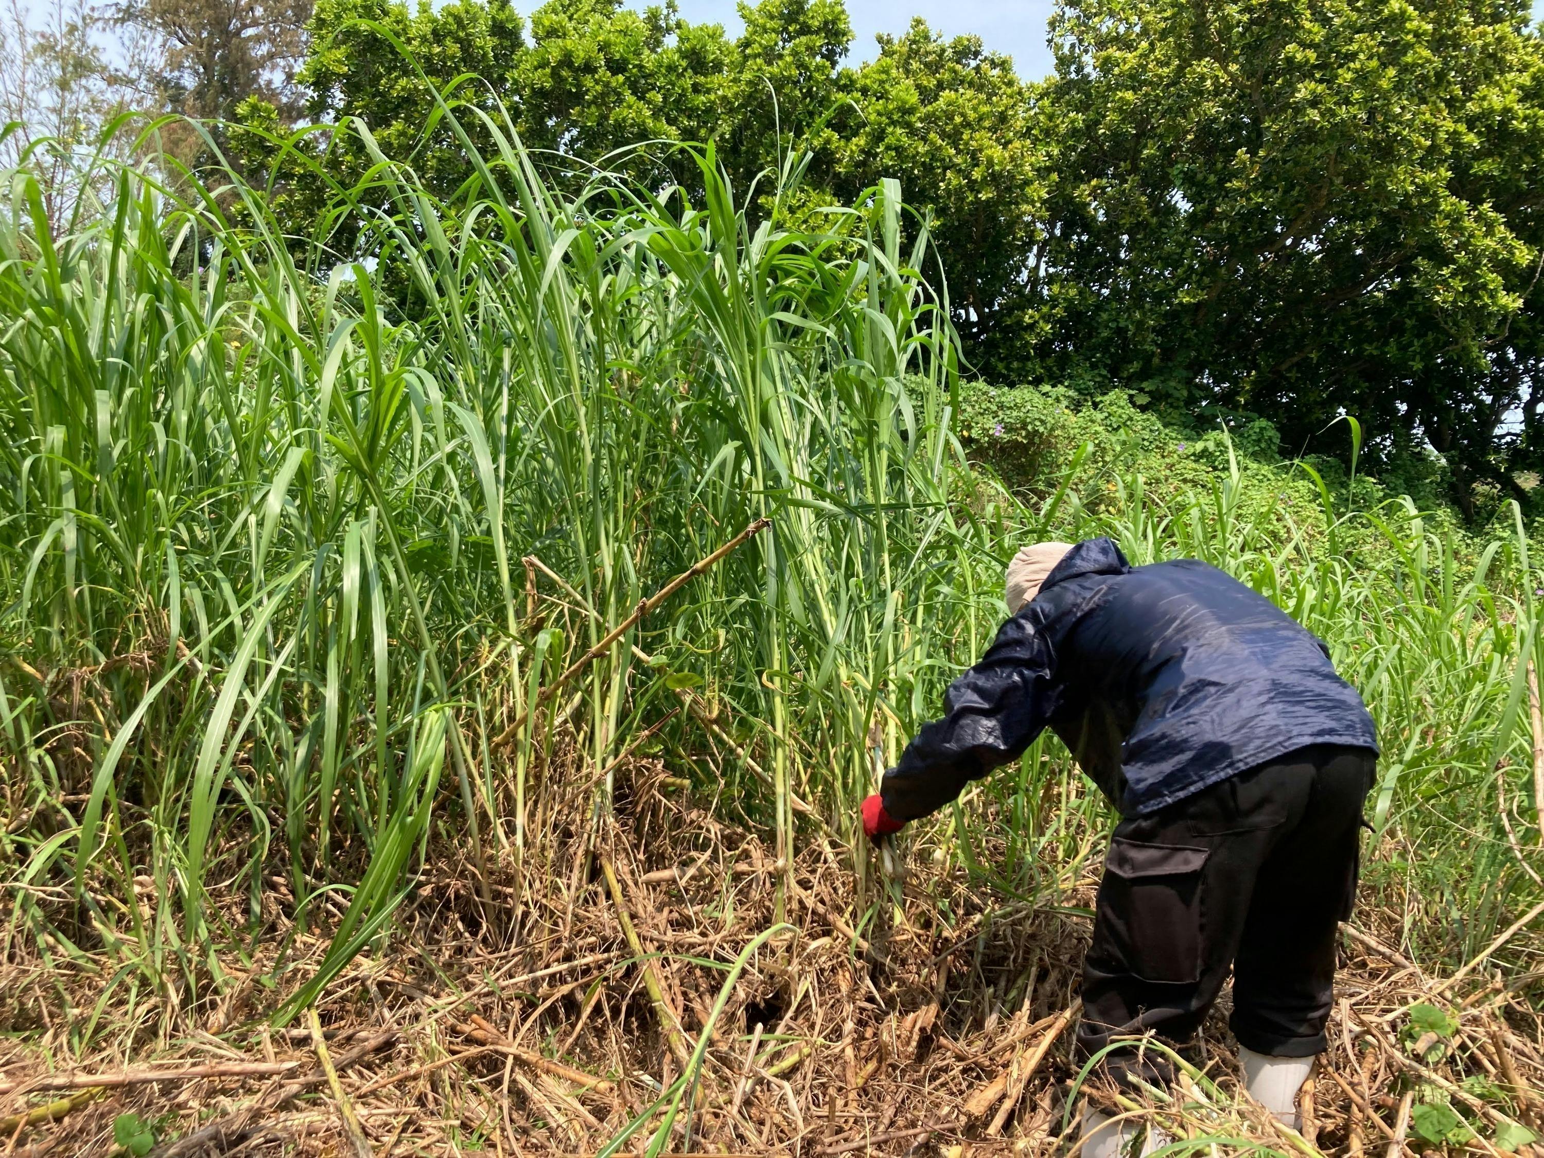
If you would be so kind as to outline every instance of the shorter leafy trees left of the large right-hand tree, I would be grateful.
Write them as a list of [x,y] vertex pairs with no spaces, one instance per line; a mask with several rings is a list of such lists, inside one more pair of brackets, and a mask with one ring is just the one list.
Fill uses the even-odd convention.
[[[740,196],[803,148],[814,154],[803,204],[899,178],[933,218],[973,350],[1011,346],[1011,327],[993,323],[1004,304],[1025,317],[1024,255],[1041,230],[1044,188],[1028,124],[1033,90],[1011,62],[976,37],[945,40],[916,22],[883,39],[872,63],[845,66],[852,28],[840,0],[761,0],[741,5],[741,17],[744,31],[730,37],[682,20],[673,5],[639,12],[622,0],[548,0],[528,25],[506,0],[440,9],[318,0],[300,79],[310,122],[363,119],[388,156],[411,156],[442,195],[469,170],[443,125],[425,134],[426,80],[443,88],[471,76],[457,96],[489,116],[506,113],[560,165],[608,157],[656,167],[690,190],[695,164],[675,144],[713,141]],[[252,127],[273,125],[261,107],[245,114]],[[313,153],[327,147],[312,136]],[[269,142],[245,141],[249,165],[272,154]],[[329,173],[344,182],[369,164],[357,145],[327,154]],[[276,196],[300,230],[318,219],[326,188],[290,173]]]

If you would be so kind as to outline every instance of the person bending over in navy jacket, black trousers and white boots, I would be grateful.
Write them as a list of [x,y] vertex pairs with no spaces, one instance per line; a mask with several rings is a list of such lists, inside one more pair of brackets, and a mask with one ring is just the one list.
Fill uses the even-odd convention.
[[[1244,1085],[1295,1126],[1325,1048],[1377,758],[1362,698],[1315,636],[1194,559],[1132,567],[1109,539],[1038,543],[1008,565],[1007,604],[943,718],[863,801],[865,832],[942,808],[1050,727],[1121,814],[1084,960],[1079,1058],[1130,1034],[1186,1044],[1232,968]],[[1132,1047],[1106,1072],[1129,1087],[1172,1076]],[[1082,1130],[1085,1158],[1124,1143],[1098,1112]]]

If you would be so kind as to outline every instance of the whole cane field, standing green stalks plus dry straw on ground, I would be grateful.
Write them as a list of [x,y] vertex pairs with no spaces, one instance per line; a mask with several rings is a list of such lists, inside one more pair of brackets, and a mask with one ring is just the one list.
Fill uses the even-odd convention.
[[1385,749],[1305,1132],[1221,1021],[1116,1109],[1544,1133],[1521,513],[1085,448],[1008,486],[894,182],[791,218],[795,161],[577,185],[479,133],[452,204],[378,157],[310,238],[233,178],[68,221],[5,178],[5,1153],[1067,1153],[1119,1102],[1065,1033],[1109,809],[1042,740],[885,854],[855,817],[1013,550],[1093,534],[1291,610]]

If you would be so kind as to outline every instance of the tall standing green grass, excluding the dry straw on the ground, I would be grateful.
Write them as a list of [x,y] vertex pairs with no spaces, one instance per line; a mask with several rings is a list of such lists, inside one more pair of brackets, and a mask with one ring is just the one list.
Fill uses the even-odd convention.
[[[66,224],[5,174],[8,951],[210,999],[278,879],[303,919],[346,899],[300,1008],[432,834],[462,834],[480,875],[537,871],[554,784],[587,786],[598,824],[616,758],[682,699],[647,743],[767,826],[791,872],[815,828],[854,835],[875,760],[937,710],[1004,615],[1002,562],[1047,533],[1206,557],[1331,644],[1382,726],[1377,824],[1431,909],[1413,937],[1456,959],[1538,896],[1493,770],[1510,761],[1536,843],[1521,528],[1475,565],[1417,511],[1326,486],[1283,537],[1241,514],[1237,466],[1153,499],[1130,463],[1089,480],[1079,455],[1014,494],[951,432],[943,279],[894,182],[791,224],[797,159],[736,190],[693,153],[693,202],[548,181],[505,127],[479,131],[494,151],[454,202],[377,154],[301,239],[229,174],[120,170]],[[1047,740],[928,838],[1039,896],[1106,823]]]

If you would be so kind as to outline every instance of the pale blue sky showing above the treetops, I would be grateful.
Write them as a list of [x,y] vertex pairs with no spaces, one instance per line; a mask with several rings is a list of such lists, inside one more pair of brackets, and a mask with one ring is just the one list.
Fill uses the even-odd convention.
[[[681,15],[692,23],[720,23],[733,34],[740,31],[735,0],[676,0]],[[635,0],[642,8],[644,0]],[[1019,76],[1038,79],[1051,71],[1051,54],[1045,48],[1045,22],[1053,0],[909,0],[905,5],[882,0],[848,0],[852,17],[852,56],[871,60],[875,54],[875,32],[900,32],[913,14],[923,17],[945,36],[973,32],[987,48],[1007,52]],[[1544,17],[1544,0],[1533,0],[1533,17]]]

